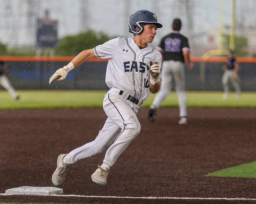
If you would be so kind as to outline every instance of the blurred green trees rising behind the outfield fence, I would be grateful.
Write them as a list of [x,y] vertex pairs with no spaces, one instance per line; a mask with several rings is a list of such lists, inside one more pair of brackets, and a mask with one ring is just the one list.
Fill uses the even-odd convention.
[[[226,49],[229,47],[229,35],[223,34],[223,44]],[[68,35],[59,39],[58,47],[54,49],[55,56],[76,56],[80,52],[86,49],[92,49],[97,45],[115,38],[114,36],[108,36],[103,32],[95,32],[88,30],[76,35]],[[235,36],[235,53],[236,57],[248,56],[248,39],[244,36]],[[47,54],[48,48],[42,48],[44,52],[42,55]],[[49,52],[50,53],[50,52]],[[8,48],[7,45],[0,42],[0,55],[20,55],[20,56],[35,56],[36,48],[20,47],[20,48]],[[256,57],[256,53],[253,55]]]

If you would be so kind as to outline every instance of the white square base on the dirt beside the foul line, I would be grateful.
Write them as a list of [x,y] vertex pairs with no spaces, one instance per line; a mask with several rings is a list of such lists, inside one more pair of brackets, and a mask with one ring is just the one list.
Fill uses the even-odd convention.
[[63,189],[61,188],[33,186],[21,186],[10,188],[5,191],[6,195],[52,195],[61,193],[63,193]]

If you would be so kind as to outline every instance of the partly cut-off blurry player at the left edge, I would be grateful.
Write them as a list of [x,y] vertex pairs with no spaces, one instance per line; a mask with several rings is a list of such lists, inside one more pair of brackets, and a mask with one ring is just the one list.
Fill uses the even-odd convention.
[[19,100],[20,97],[15,92],[9,79],[6,77],[7,69],[7,64],[3,61],[0,61],[0,85],[9,92],[14,100]]

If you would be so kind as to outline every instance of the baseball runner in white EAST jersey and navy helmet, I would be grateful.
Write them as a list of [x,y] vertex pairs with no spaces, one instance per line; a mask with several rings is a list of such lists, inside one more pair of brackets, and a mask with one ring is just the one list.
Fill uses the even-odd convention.
[[148,43],[153,41],[157,28],[161,27],[155,13],[136,11],[129,19],[129,32],[133,33],[134,38],[115,38],[93,49],[84,50],[52,75],[50,84],[54,80],[65,79],[69,71],[92,57],[109,59],[106,84],[110,90],[103,100],[103,109],[108,118],[94,141],[68,154],[59,155],[57,168],[52,175],[55,186],[64,183],[71,164],[105,149],[107,152],[103,163],[91,178],[96,184],[107,185],[110,167],[140,133],[140,122],[136,116],[138,109],[148,98],[149,91],[156,93],[160,87],[162,56]]

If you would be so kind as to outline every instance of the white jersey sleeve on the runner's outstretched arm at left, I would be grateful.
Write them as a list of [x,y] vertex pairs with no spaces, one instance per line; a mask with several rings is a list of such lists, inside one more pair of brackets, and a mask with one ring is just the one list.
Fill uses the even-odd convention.
[[119,38],[108,40],[104,44],[94,47],[93,52],[95,56],[97,56],[99,59],[107,59],[113,57],[118,45],[118,40]]

